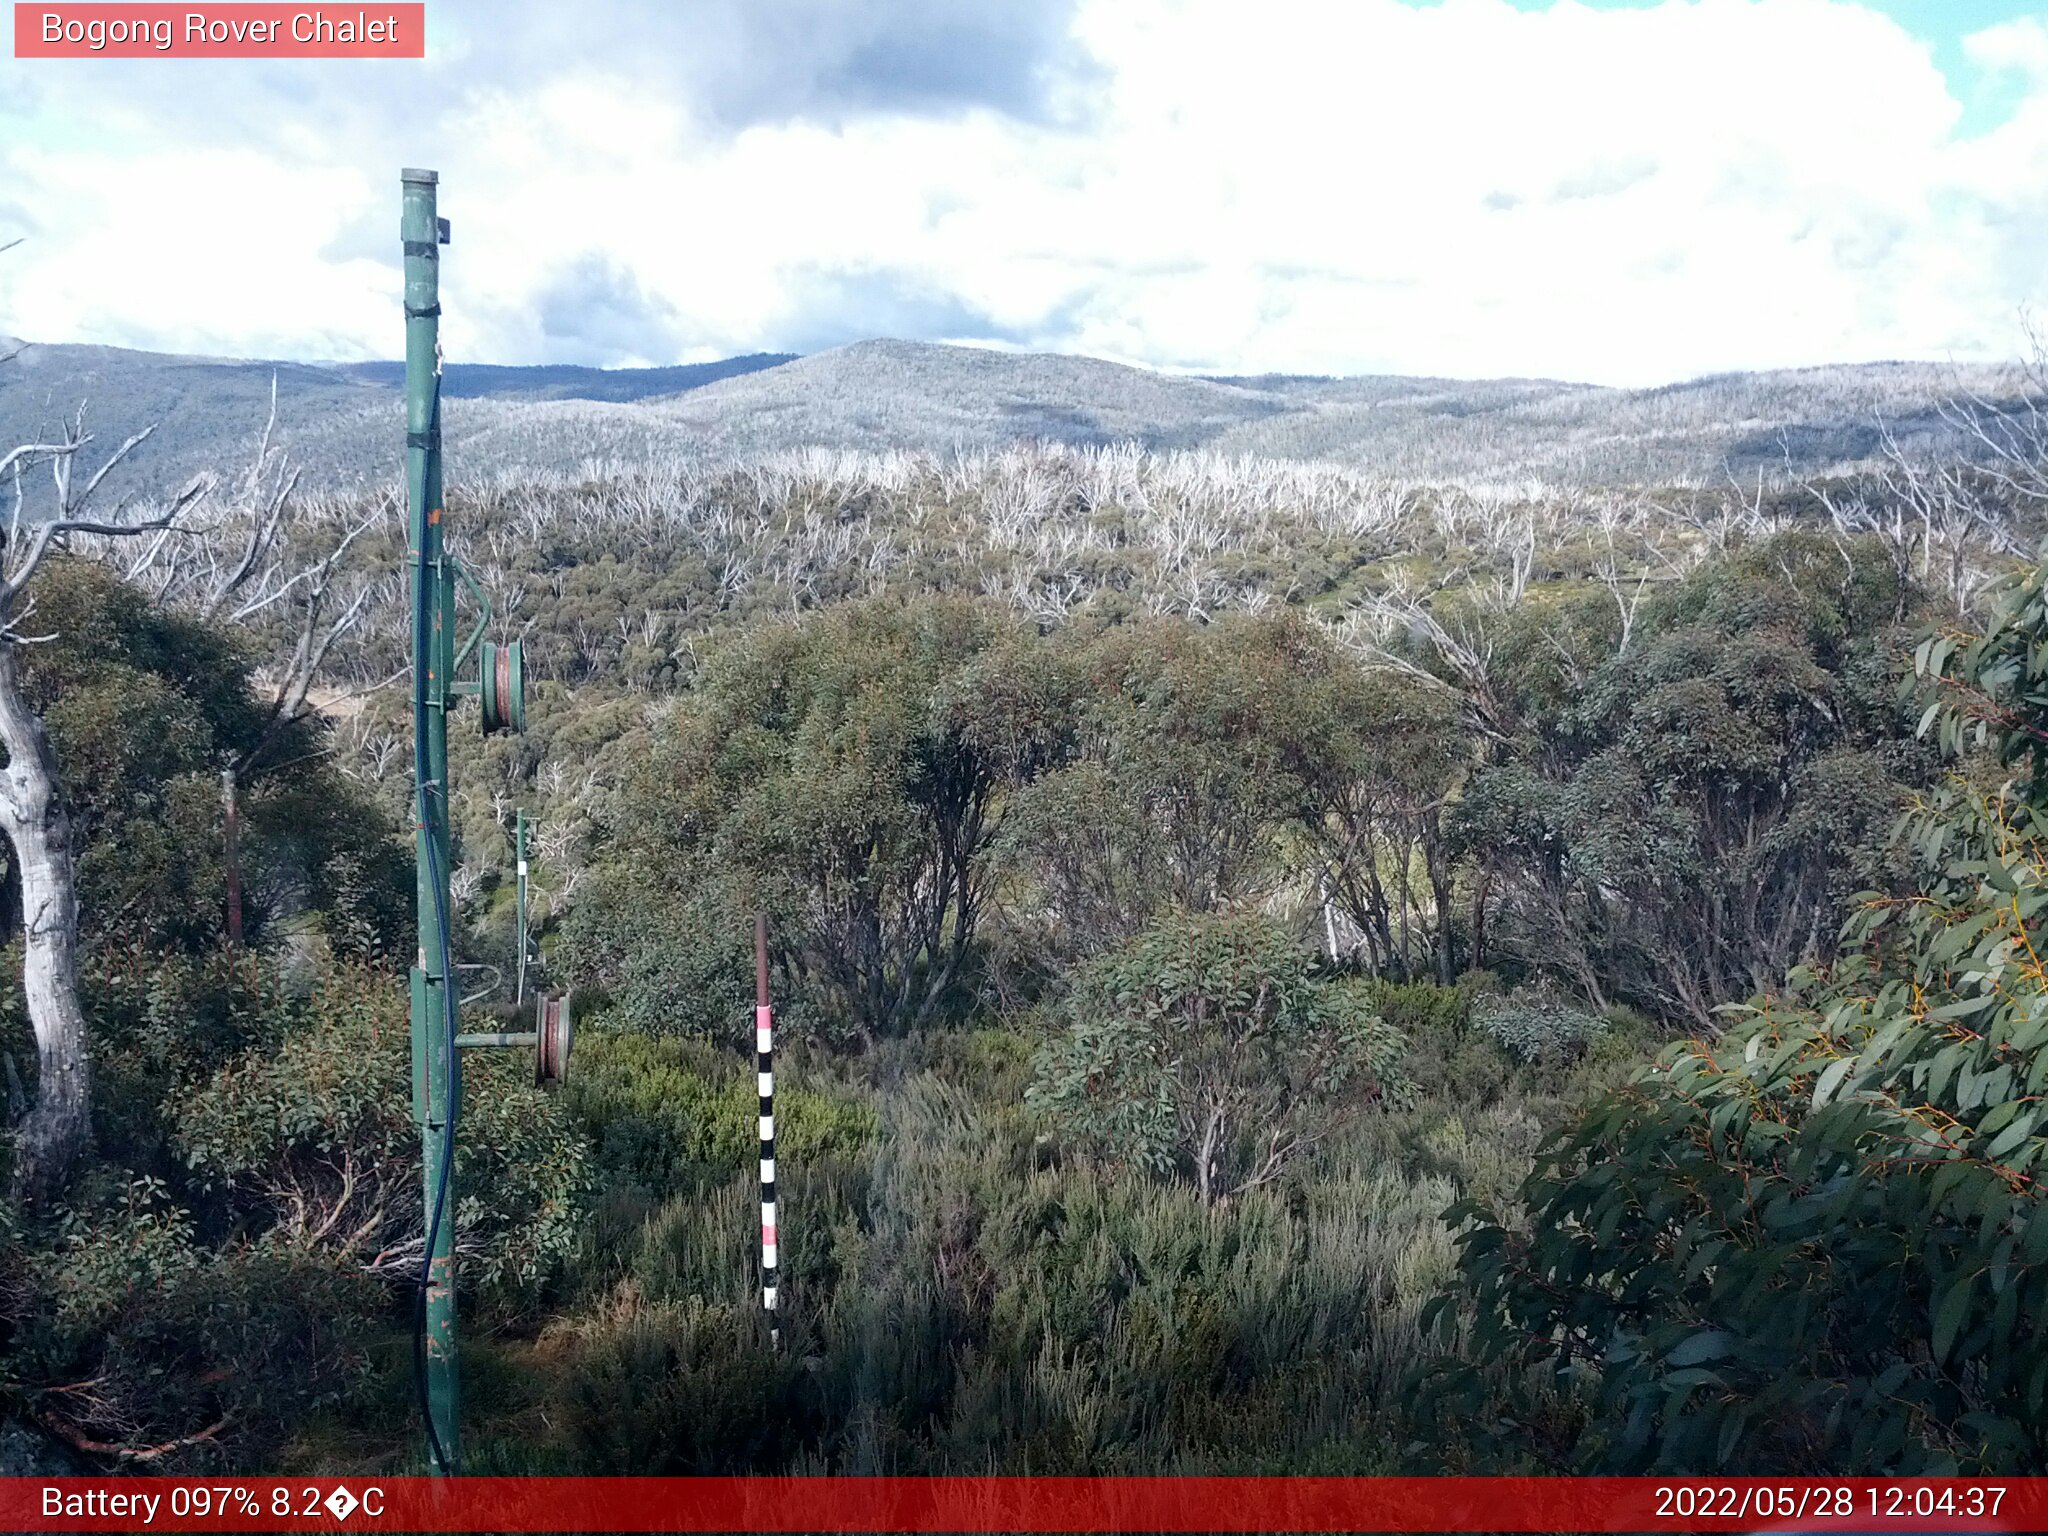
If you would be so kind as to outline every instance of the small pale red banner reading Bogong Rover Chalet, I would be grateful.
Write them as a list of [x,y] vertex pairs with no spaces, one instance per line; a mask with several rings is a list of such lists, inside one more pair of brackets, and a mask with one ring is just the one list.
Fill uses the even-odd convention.
[[424,59],[426,4],[18,4],[16,59]]

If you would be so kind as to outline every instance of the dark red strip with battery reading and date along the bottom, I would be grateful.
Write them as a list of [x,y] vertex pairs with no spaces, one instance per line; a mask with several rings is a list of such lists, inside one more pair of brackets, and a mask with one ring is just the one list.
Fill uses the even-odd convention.
[[229,1532],[2019,1532],[2048,1479],[0,1479],[0,1528]]

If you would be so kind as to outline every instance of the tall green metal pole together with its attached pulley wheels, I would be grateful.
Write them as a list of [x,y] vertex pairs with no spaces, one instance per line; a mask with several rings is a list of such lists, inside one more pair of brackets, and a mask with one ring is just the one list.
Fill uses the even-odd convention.
[[[451,958],[449,711],[475,694],[485,733],[526,729],[526,668],[520,643],[492,645],[492,604],[444,545],[440,496],[440,248],[449,223],[436,213],[440,176],[401,172],[406,246],[406,565],[412,592],[414,840],[420,872],[420,954],[412,969],[412,1114],[420,1126],[426,1241],[414,1374],[426,1421],[428,1466],[459,1470],[461,1382],[455,1362],[455,1122],[463,1102],[463,1047],[535,1047],[541,1083],[559,1081],[569,1059],[569,1001],[541,993],[537,1028],[461,1034],[457,967]],[[455,641],[455,596],[475,600],[475,627]],[[479,649],[481,645],[481,649]],[[475,682],[457,682],[471,655]],[[524,850],[522,850],[524,852]],[[524,866],[520,868],[524,887]],[[524,946],[524,934],[520,934]],[[524,961],[524,948],[520,950]],[[524,965],[522,965],[524,971]]]

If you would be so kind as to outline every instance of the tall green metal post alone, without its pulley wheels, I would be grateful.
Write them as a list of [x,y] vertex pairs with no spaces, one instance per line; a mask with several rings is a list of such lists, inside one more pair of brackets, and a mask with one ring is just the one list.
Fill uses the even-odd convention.
[[440,506],[440,176],[406,170],[406,494],[414,598],[414,821],[420,864],[420,958],[412,973],[414,1120],[426,1184],[424,1354],[428,1464],[459,1470],[455,1362],[455,1190],[449,1155],[459,1063],[455,1057],[449,967],[449,676],[455,664],[455,580],[442,551]]

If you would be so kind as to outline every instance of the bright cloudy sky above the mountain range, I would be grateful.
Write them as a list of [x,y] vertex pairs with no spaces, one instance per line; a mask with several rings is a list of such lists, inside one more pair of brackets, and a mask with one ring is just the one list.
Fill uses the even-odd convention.
[[868,336],[1655,385],[2001,360],[2042,0],[428,0],[428,57],[0,55],[0,332],[387,358]]

